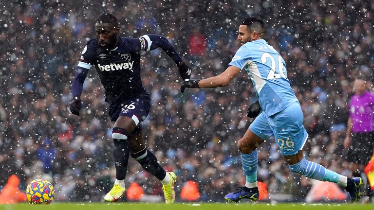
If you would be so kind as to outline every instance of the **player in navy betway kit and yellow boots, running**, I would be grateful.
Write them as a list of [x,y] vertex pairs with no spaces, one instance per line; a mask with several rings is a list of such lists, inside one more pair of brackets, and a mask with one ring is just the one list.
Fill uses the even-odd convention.
[[177,176],[160,166],[142,138],[142,122],[150,112],[150,93],[144,88],[140,78],[140,51],[162,48],[177,64],[183,79],[190,77],[191,69],[163,36],[120,37],[117,18],[110,13],[103,13],[97,18],[95,31],[97,38],[88,41],[76,68],[70,111],[79,115],[83,82],[88,71],[95,66],[104,86],[105,101],[110,104],[109,115],[114,123],[112,139],[116,179],[104,200],[116,202],[124,195],[130,155],[144,170],[162,182],[166,203],[173,203]]

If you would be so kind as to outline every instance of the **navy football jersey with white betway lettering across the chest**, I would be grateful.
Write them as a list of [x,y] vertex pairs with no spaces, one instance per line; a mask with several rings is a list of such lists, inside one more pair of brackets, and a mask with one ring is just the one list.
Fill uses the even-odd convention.
[[104,86],[109,104],[122,101],[146,92],[140,78],[140,50],[149,51],[148,35],[139,38],[119,37],[113,50],[102,50],[97,39],[88,41],[82,52],[78,67],[91,69]]

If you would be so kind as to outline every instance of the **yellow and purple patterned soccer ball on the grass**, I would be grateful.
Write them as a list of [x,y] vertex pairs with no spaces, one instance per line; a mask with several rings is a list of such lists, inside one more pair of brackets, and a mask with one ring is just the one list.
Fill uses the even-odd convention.
[[31,204],[50,204],[55,196],[55,189],[45,179],[34,179],[26,188],[26,196]]

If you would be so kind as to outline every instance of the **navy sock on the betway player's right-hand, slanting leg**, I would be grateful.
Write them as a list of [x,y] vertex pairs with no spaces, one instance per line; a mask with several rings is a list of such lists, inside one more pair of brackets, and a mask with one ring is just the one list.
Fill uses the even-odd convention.
[[142,165],[143,169],[151,175],[156,176],[158,180],[163,180],[166,176],[166,171],[158,163],[156,156],[147,148],[131,154],[131,157]]

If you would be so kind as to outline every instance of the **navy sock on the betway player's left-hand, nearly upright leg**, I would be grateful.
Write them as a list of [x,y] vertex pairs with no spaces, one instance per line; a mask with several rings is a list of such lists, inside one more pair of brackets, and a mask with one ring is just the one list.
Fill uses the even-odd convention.
[[127,164],[129,162],[130,147],[128,140],[113,139],[115,178],[123,180],[126,178]]

